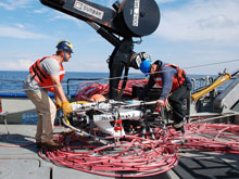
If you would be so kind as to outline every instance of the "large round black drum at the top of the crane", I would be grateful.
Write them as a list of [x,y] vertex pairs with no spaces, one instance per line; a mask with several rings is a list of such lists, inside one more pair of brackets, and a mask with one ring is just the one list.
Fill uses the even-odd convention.
[[160,24],[160,10],[154,0],[125,0],[122,4],[125,33],[142,37],[155,31]]

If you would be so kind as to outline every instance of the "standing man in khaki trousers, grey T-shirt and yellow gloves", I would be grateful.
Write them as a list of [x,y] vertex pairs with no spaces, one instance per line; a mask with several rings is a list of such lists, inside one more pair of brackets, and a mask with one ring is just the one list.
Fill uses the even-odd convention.
[[[36,143],[38,148],[61,149],[62,145],[53,140],[53,126],[56,107],[64,114],[72,113],[72,106],[66,99],[61,81],[65,75],[63,62],[68,62],[73,53],[73,44],[61,40],[56,44],[56,53],[36,61],[29,68],[29,75],[24,81],[24,91],[36,105],[39,119],[37,124]],[[54,93],[55,104],[48,95]]]

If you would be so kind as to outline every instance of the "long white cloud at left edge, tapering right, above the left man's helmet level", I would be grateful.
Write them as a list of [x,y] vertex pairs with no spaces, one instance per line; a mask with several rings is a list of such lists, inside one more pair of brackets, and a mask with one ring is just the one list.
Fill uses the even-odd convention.
[[11,37],[20,39],[46,39],[49,38],[46,35],[28,31],[24,28],[24,25],[17,24],[17,27],[10,27],[0,25],[0,37]]

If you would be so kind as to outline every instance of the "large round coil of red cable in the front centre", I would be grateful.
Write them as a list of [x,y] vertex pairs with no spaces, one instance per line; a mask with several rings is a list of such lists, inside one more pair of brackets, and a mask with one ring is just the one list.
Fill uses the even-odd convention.
[[[113,137],[109,137],[111,139]],[[125,141],[97,146],[78,136],[72,140],[80,141],[81,146],[66,145],[63,150],[47,151],[43,159],[56,165],[108,177],[148,177],[172,169],[178,162],[177,148],[160,141],[125,137]],[[89,146],[90,151],[84,151]],[[42,151],[41,151],[42,152]],[[122,174],[114,174],[121,171]],[[129,174],[128,174],[129,172]]]

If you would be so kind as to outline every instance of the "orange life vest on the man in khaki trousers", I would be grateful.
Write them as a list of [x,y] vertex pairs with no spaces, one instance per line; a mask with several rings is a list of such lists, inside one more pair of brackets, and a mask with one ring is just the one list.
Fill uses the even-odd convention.
[[[30,75],[34,77],[34,79],[41,87],[45,87],[46,90],[54,93],[54,87],[53,87],[52,80],[50,78],[50,75],[48,75],[40,66],[40,62],[42,62],[45,59],[53,59],[59,62],[59,60],[54,56],[45,56],[42,59],[39,59],[37,62],[35,62],[29,67],[29,72],[30,72]],[[64,71],[64,67],[61,63],[59,63],[59,65],[60,65],[60,81],[62,81],[62,79],[65,76],[65,71]]]

